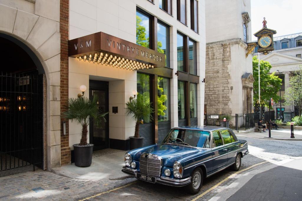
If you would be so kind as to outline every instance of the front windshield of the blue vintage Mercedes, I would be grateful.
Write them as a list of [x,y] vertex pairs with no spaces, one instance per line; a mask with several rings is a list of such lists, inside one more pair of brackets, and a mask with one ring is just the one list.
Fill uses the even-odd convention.
[[180,144],[199,148],[210,148],[210,132],[191,129],[172,129],[162,144]]

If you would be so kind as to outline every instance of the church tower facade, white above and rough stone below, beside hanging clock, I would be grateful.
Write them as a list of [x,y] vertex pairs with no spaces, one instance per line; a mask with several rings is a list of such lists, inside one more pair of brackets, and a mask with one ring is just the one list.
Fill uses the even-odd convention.
[[251,2],[206,1],[206,83],[204,104],[207,114],[228,114],[230,126],[235,114],[251,113],[253,101]]

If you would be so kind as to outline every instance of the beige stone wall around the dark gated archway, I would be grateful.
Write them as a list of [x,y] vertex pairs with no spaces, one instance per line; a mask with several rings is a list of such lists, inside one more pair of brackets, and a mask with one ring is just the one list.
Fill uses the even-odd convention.
[[[0,32],[26,44],[47,79],[47,169],[61,165],[59,0],[0,0]],[[43,135],[43,134],[41,134]]]

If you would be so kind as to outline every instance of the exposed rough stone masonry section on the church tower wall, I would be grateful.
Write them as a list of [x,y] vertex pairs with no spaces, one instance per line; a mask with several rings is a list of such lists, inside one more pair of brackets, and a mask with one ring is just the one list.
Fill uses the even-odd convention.
[[231,44],[206,46],[206,70],[204,104],[208,114],[231,114],[229,65],[231,65]]

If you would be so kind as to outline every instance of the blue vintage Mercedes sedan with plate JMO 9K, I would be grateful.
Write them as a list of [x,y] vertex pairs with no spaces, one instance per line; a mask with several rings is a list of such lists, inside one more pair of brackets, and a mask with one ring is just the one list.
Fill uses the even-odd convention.
[[160,144],[128,151],[122,172],[151,183],[186,186],[195,194],[204,178],[227,167],[239,170],[248,153],[247,141],[238,140],[230,128],[177,127]]

